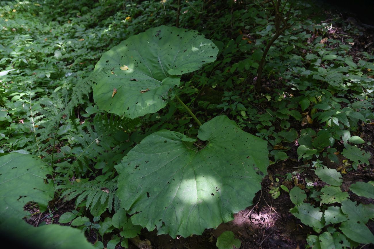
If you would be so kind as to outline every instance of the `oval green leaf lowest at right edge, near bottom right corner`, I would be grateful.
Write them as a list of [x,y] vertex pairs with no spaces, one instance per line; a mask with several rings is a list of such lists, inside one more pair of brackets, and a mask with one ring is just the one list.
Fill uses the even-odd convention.
[[374,235],[371,233],[369,228],[356,221],[344,221],[340,225],[340,230],[349,239],[363,244],[374,243]]

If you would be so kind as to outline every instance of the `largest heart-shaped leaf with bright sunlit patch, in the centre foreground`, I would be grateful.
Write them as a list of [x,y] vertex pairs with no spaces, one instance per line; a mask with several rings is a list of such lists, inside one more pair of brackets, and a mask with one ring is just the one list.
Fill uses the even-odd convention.
[[117,194],[134,224],[187,237],[252,205],[269,165],[267,143],[227,116],[203,124],[197,137],[208,141],[203,149],[196,139],[158,131],[116,166]]

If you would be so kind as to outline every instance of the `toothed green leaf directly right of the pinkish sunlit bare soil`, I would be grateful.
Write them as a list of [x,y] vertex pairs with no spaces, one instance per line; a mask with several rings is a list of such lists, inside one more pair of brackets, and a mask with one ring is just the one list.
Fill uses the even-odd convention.
[[291,213],[310,227],[321,229],[324,227],[322,223],[322,212],[319,208],[315,208],[309,203],[301,203],[298,206],[290,209]]

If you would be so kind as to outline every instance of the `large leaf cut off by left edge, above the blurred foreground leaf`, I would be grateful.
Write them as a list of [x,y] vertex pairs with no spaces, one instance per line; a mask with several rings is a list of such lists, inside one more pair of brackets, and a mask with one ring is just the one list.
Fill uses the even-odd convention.
[[37,202],[45,210],[53,199],[53,183],[46,184],[52,168],[28,154],[9,153],[0,157],[0,223],[5,217],[22,219],[27,202]]

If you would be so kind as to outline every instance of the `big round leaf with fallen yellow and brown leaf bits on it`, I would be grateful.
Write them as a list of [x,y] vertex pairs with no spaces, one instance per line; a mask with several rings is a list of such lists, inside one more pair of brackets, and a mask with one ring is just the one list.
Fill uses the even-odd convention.
[[93,72],[93,97],[100,109],[129,118],[157,112],[175,96],[180,78],[173,75],[196,71],[217,53],[196,30],[150,28],[102,55]]

